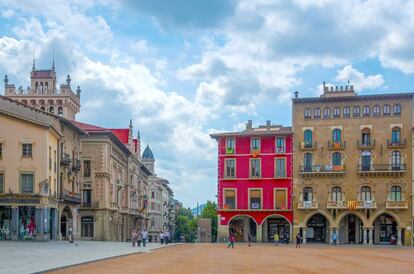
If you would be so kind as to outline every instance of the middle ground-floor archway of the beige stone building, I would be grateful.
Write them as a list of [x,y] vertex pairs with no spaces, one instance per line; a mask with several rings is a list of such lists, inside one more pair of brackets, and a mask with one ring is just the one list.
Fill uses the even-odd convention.
[[364,223],[353,213],[344,215],[339,221],[339,243],[362,244]]

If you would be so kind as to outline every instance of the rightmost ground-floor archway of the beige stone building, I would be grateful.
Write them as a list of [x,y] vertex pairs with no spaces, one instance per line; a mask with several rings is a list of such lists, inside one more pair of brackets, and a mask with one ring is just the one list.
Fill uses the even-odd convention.
[[392,239],[403,242],[401,234],[398,235],[398,223],[390,214],[383,213],[374,220],[374,244],[390,244]]

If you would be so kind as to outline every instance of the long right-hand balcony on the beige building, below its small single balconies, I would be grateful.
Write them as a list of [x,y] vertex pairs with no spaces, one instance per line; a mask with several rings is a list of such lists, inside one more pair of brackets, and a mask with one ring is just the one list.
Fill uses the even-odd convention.
[[400,177],[407,171],[406,164],[400,165],[358,165],[358,175],[362,177]]

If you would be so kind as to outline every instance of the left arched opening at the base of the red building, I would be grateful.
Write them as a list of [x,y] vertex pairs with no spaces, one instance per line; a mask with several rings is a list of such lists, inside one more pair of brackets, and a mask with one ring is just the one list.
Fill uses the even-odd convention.
[[248,235],[256,241],[257,224],[256,221],[248,215],[238,215],[233,217],[229,222],[229,235],[234,234],[236,242],[247,242]]

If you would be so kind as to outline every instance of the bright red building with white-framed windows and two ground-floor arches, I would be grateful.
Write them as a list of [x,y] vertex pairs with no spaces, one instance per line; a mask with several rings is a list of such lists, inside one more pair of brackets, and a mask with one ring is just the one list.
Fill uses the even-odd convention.
[[218,239],[292,239],[292,128],[266,125],[211,134],[218,142]]

